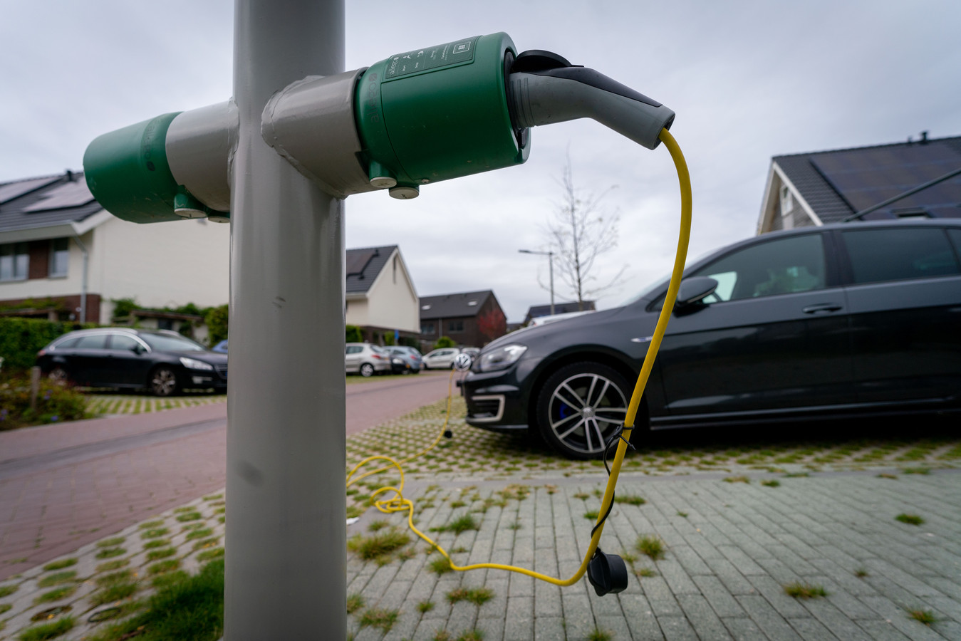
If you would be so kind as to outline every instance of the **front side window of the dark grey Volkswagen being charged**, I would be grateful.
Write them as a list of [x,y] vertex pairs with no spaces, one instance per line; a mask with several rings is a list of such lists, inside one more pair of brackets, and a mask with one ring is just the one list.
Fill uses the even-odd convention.
[[718,282],[704,303],[823,289],[824,240],[821,234],[803,234],[757,243],[690,276],[707,276]]

